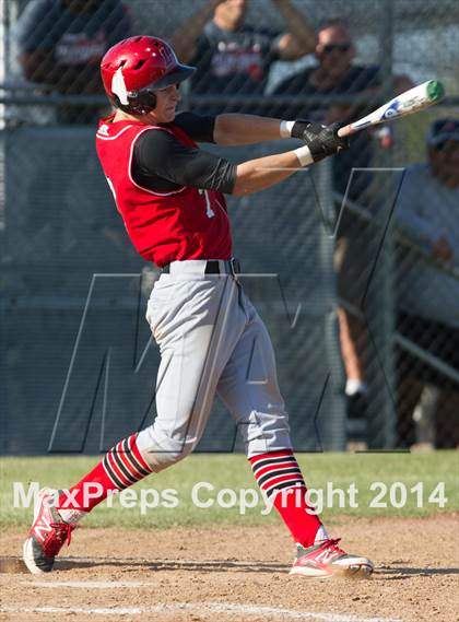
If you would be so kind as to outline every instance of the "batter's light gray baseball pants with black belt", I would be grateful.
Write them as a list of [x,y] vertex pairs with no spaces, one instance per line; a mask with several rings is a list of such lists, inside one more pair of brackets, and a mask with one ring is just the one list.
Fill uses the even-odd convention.
[[205,274],[205,263],[172,262],[148,304],[161,351],[157,414],[137,446],[154,472],[192,451],[215,394],[232,413],[248,457],[292,448],[268,331],[239,282],[227,273]]

